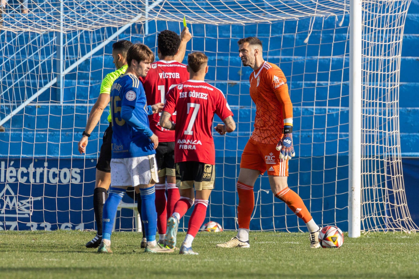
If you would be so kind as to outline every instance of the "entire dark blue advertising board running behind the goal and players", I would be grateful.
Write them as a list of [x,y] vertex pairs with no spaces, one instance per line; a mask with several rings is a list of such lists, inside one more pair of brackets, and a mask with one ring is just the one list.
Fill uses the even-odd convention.
[[[344,158],[347,164],[347,157]],[[328,160],[323,157],[322,160]],[[416,196],[419,160],[403,159],[406,196],[412,218],[418,222]],[[305,172],[304,160],[290,161],[290,169]],[[316,165],[323,165],[317,162]],[[0,158],[0,230],[95,230],[93,212],[93,189],[95,187],[96,160],[73,158]],[[309,167],[310,164],[307,164]],[[236,210],[238,197],[235,189],[238,171],[235,157],[217,158],[215,189],[210,197],[206,221],[211,219],[226,230],[237,229]],[[343,176],[347,168],[339,169]],[[315,173],[310,169],[307,173]],[[322,174],[323,172],[319,172]],[[233,174],[233,176],[231,175]],[[309,177],[312,177],[309,175]],[[289,186],[298,191],[309,207],[315,220],[324,224],[336,223],[347,230],[347,181],[336,182],[336,175],[329,175],[318,185],[319,191],[304,187],[304,176],[298,180],[298,172],[290,173]],[[300,185],[297,185],[300,183]],[[330,184],[330,185],[329,185]],[[323,189],[323,190],[321,190]],[[324,192],[330,189],[330,193]],[[305,230],[301,220],[275,199],[269,188],[266,174],[255,184],[255,209],[252,214],[251,230]],[[124,202],[133,202],[124,197]],[[191,210],[179,224],[186,228]],[[274,218],[272,218],[274,216]],[[134,230],[133,210],[118,212],[116,228]]]

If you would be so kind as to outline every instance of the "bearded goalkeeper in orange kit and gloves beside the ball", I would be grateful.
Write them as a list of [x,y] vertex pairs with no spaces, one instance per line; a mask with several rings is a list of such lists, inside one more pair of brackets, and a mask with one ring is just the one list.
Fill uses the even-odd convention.
[[221,248],[249,248],[250,219],[254,207],[253,186],[260,174],[268,172],[269,184],[275,197],[307,225],[310,247],[319,248],[320,228],[305,207],[300,196],[288,188],[288,159],[295,156],[292,145],[292,102],[287,79],[275,64],[264,61],[262,42],[256,37],[238,41],[243,66],[251,67],[250,96],[256,104],[254,130],[241,156],[237,181],[239,204],[237,208],[238,233]]

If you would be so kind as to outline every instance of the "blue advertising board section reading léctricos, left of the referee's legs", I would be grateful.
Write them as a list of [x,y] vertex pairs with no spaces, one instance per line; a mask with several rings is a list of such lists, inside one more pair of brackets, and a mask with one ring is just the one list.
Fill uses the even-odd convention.
[[0,159],[0,230],[93,229],[95,166],[83,159]]

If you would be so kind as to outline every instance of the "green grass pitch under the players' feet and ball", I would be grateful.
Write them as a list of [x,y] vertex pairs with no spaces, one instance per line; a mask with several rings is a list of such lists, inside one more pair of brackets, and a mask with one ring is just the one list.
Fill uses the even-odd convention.
[[144,253],[135,232],[113,233],[114,253],[98,254],[84,246],[93,236],[0,231],[0,278],[419,278],[419,233],[345,233],[339,249],[311,249],[308,233],[251,232],[250,248],[222,249],[235,232],[200,232],[197,256]]

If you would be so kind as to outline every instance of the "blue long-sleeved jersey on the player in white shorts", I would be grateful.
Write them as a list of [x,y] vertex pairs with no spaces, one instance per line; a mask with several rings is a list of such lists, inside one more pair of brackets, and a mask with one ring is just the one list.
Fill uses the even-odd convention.
[[111,88],[112,158],[155,154],[149,138],[152,114],[140,80],[132,74],[117,78]]

